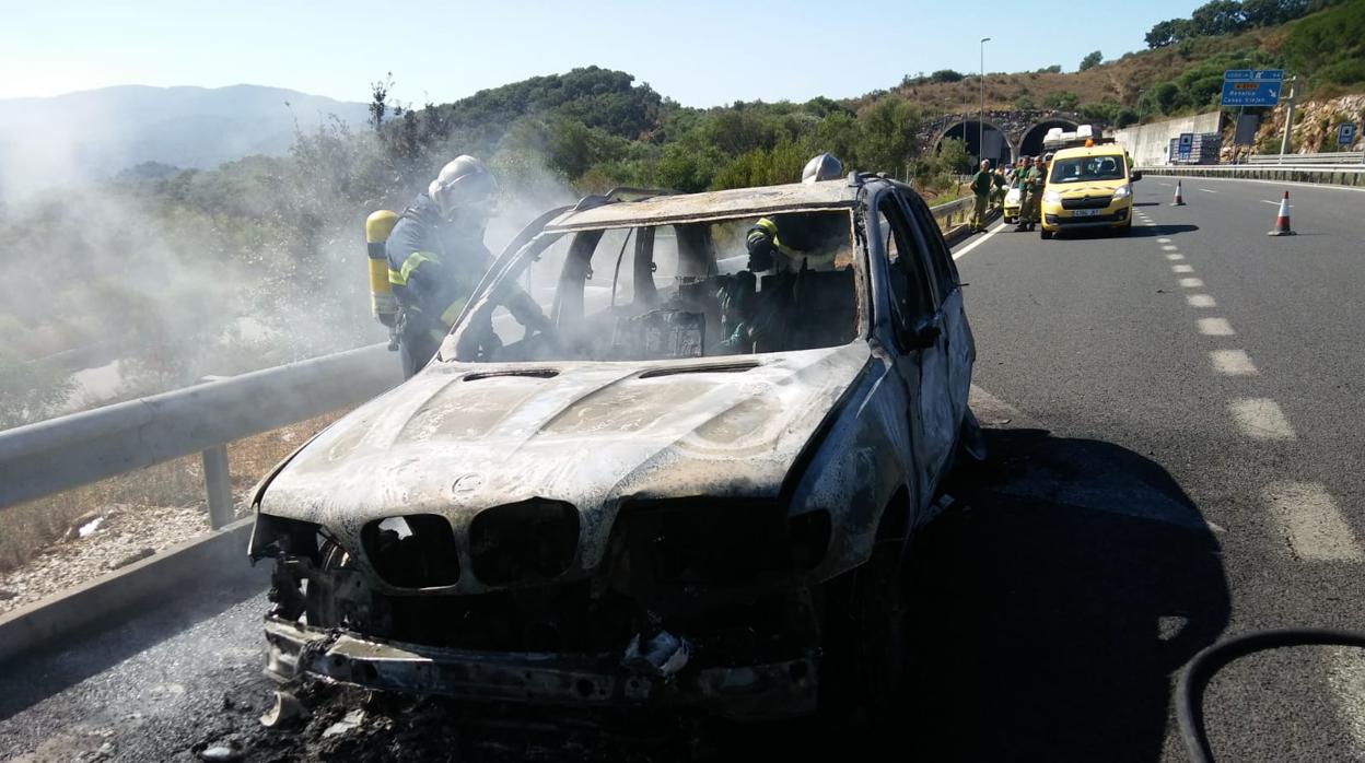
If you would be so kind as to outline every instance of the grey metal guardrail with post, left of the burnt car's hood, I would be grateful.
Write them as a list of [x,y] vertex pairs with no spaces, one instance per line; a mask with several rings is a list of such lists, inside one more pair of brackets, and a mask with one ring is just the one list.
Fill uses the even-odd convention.
[[232,519],[225,445],[359,404],[401,381],[375,344],[0,431],[0,512],[203,453],[214,528]]

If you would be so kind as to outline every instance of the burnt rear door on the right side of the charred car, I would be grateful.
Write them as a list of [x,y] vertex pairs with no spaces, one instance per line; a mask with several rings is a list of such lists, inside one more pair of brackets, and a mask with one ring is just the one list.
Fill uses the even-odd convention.
[[968,397],[972,393],[972,364],[976,363],[976,339],[966,322],[966,307],[962,303],[962,281],[957,265],[943,242],[934,213],[924,199],[915,194],[901,194],[916,229],[923,240],[928,266],[934,273],[934,291],[938,295],[939,314],[943,319],[943,341],[947,354],[949,394],[953,403],[953,420],[961,422],[966,415]]

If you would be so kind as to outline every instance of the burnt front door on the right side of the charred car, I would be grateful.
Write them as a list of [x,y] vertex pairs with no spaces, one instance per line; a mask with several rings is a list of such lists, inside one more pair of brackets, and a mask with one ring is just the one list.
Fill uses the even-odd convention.
[[898,194],[889,188],[874,205],[878,250],[886,258],[895,373],[908,390],[910,468],[923,506],[934,495],[956,444],[942,317],[927,259]]

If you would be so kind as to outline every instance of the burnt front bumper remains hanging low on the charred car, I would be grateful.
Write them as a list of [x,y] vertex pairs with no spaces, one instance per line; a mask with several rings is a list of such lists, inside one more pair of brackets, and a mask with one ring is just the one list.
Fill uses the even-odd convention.
[[665,674],[612,654],[495,652],[367,639],[266,616],[265,673],[303,674],[374,689],[476,702],[577,707],[692,707],[732,719],[815,711],[818,650],[779,662],[704,666]]

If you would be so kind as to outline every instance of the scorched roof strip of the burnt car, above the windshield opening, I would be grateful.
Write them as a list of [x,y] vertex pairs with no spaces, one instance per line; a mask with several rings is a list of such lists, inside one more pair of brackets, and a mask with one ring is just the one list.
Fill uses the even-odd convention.
[[852,207],[857,201],[857,191],[859,188],[849,186],[846,179],[839,179],[823,183],[790,183],[760,188],[651,197],[642,201],[613,202],[583,210],[569,210],[551,220],[545,231],[661,225],[804,209]]

